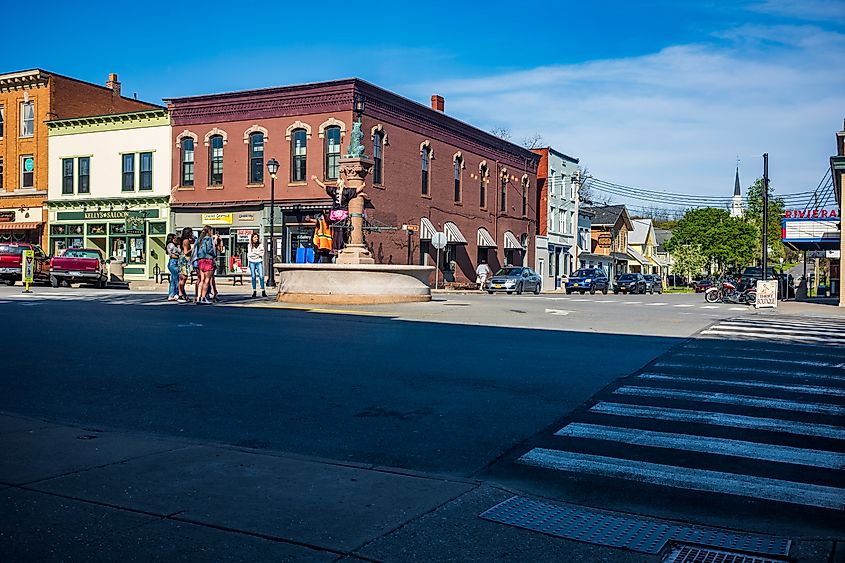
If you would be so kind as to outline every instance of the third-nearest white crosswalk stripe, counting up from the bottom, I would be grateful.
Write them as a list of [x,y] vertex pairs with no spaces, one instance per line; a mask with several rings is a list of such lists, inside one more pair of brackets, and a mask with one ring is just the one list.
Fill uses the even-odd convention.
[[798,436],[818,436],[821,438],[845,440],[845,427],[842,426],[798,422],[794,420],[781,420],[777,418],[764,418],[744,414],[673,409],[668,407],[652,407],[645,405],[629,405],[604,401],[593,405],[590,412],[613,416],[708,424],[712,426],[726,426],[728,428],[765,430],[768,432],[781,432],[785,434],[795,434]]

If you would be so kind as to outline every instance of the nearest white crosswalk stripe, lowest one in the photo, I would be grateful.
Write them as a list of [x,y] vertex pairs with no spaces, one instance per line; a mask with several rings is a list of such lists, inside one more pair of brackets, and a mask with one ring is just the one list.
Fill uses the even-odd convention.
[[534,448],[518,461],[525,465],[546,469],[590,473],[654,485],[727,493],[835,510],[845,508],[845,489],[824,485],[547,448]]

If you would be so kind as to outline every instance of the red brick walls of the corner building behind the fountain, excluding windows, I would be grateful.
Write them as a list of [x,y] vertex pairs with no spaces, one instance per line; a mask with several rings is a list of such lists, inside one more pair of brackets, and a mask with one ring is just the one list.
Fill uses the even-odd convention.
[[[419,226],[421,218],[431,221],[442,231],[446,222],[458,227],[466,244],[450,244],[442,260],[447,280],[474,281],[479,258],[485,258],[495,270],[506,260],[530,264],[533,256],[511,250],[505,253],[505,231],[511,239],[529,242],[536,232],[536,173],[539,157],[521,147],[498,139],[441,111],[417,104],[372,84],[357,79],[303,86],[272,88],[179,98],[169,101],[173,121],[172,206],[174,212],[190,209],[255,209],[270,199],[270,182],[248,185],[248,131],[266,131],[265,162],[276,158],[281,163],[276,180],[276,200],[286,213],[297,206],[303,209],[326,207],[325,192],[310,178],[324,178],[324,139],[321,125],[340,124],[344,134],[341,152],[345,153],[354,120],[353,99],[362,95],[365,110],[362,129],[366,154],[373,156],[373,132],[383,133],[383,174],[380,184],[367,178],[366,193],[373,205],[367,210],[369,220],[388,226]],[[442,101],[437,101],[442,104]],[[310,131],[307,144],[306,182],[291,181],[291,141],[286,131],[305,128]],[[209,150],[206,136],[217,130],[225,138],[223,150],[223,184],[209,186]],[[191,187],[180,186],[180,140],[185,136],[195,142],[195,180]],[[421,147],[430,148],[433,158],[429,168],[429,193],[421,189]],[[460,168],[460,201],[455,201],[455,159],[462,159]],[[481,205],[482,164],[486,166],[485,205]],[[266,172],[265,172],[266,176]],[[500,178],[506,178],[506,209],[501,211]],[[527,186],[523,203],[523,186]],[[523,209],[524,207],[524,209]],[[294,221],[286,215],[286,221]],[[266,221],[266,215],[265,215]],[[279,217],[277,216],[277,223]],[[181,226],[181,225],[176,225]],[[194,226],[194,225],[192,225]],[[478,230],[486,229],[497,244],[489,252],[478,249]],[[434,249],[420,240],[420,231],[412,238],[410,255],[413,263],[433,264]],[[367,233],[367,242],[379,263],[404,264],[408,259],[408,236],[405,231]],[[421,245],[422,242],[422,245]],[[454,261],[455,271],[450,271]]]

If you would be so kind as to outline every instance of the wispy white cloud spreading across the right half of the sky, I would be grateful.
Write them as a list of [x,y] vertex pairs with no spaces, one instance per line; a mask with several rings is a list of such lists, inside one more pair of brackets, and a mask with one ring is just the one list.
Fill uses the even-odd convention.
[[621,184],[729,197],[737,155],[747,186],[768,152],[778,192],[814,189],[845,117],[845,35],[746,26],[716,41],[413,90],[481,128],[541,133]]

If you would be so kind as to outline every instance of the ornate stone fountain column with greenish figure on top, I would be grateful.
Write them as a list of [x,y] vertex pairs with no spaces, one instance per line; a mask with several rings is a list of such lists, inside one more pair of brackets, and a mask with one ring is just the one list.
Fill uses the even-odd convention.
[[338,264],[374,264],[372,254],[364,245],[364,179],[373,166],[373,161],[364,154],[361,141],[361,121],[352,124],[346,155],[340,159],[340,177],[344,187],[354,189],[357,195],[349,201],[349,221],[352,224],[350,240],[337,255]]

